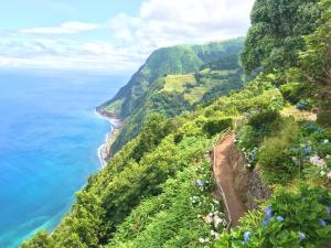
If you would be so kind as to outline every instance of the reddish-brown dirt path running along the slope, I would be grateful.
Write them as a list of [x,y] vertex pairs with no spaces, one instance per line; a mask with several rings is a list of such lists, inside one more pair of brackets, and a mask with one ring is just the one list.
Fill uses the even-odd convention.
[[234,173],[229,164],[228,154],[232,152],[234,143],[234,134],[225,138],[215,149],[215,164],[214,174],[217,183],[222,186],[229,216],[232,218],[232,226],[238,225],[238,219],[245,214],[245,205],[241,202],[235,192]]

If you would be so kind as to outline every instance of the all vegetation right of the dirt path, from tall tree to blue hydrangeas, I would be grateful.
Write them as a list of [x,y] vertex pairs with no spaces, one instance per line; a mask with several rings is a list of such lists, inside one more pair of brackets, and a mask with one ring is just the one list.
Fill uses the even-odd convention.
[[[312,21],[296,20],[297,14]],[[224,234],[217,247],[330,247],[331,1],[257,0],[252,17],[244,66],[248,71],[261,66],[286,101],[281,112],[263,108],[247,112],[236,141],[247,169],[259,174],[274,194],[248,213],[241,227]],[[257,30],[260,42],[252,42]],[[298,30],[308,35],[298,36]],[[316,114],[323,127],[314,121]]]

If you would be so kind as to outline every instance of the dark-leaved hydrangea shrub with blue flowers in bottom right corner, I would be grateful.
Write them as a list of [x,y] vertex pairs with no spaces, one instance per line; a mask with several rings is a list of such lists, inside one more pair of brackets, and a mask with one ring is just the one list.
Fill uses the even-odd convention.
[[[320,247],[331,237],[331,194],[322,187],[301,186],[275,193],[264,213],[250,213],[243,225],[224,234],[216,247]],[[258,223],[258,225],[257,225]]]

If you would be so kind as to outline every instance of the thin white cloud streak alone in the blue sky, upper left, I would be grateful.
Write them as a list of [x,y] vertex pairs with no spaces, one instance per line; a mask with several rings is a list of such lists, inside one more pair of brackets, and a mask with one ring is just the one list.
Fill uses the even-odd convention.
[[20,30],[26,34],[74,34],[98,29],[100,25],[87,22],[65,22],[58,26],[33,28]]

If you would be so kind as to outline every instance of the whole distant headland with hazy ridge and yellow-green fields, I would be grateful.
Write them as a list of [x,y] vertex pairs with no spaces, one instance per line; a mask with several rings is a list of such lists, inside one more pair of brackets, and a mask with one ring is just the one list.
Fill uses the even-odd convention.
[[156,51],[131,80],[99,109],[115,112],[125,125],[115,153],[137,136],[152,111],[174,117],[243,86],[238,57],[243,39]]

